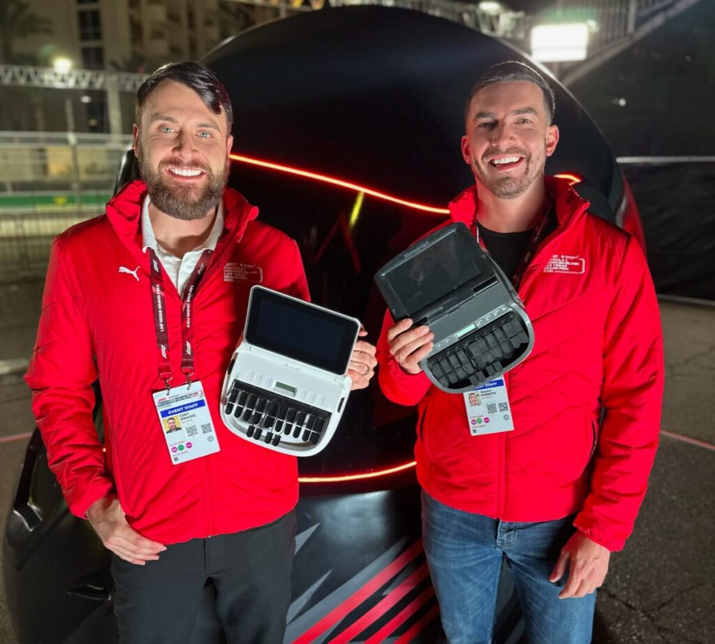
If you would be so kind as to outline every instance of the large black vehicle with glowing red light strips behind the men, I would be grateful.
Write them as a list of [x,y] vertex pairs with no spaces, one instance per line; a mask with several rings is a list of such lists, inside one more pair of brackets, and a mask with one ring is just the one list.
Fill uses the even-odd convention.
[[[262,220],[297,240],[313,300],[360,318],[372,341],[385,311],[373,274],[443,220],[448,200],[473,182],[459,149],[465,97],[487,67],[507,59],[528,62],[443,19],[358,7],[259,26],[205,61],[235,110],[230,185],[260,206]],[[623,223],[631,213],[637,224],[603,137],[552,84],[561,142],[547,172],[573,175],[598,215]],[[130,152],[118,184],[135,175]],[[301,459],[286,642],[437,638],[420,543],[415,419],[375,383],[350,397],[327,448]],[[66,509],[35,432],[4,542],[19,641],[116,641],[108,562],[91,527]],[[209,585],[195,642],[222,639],[212,592]],[[496,641],[518,639],[519,615],[503,576]]]

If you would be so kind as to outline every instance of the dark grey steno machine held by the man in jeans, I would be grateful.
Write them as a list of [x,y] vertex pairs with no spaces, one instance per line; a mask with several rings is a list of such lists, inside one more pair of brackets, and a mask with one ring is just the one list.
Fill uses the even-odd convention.
[[533,328],[501,268],[463,223],[440,228],[375,275],[393,319],[427,325],[434,346],[420,361],[448,393],[470,391],[528,356]]

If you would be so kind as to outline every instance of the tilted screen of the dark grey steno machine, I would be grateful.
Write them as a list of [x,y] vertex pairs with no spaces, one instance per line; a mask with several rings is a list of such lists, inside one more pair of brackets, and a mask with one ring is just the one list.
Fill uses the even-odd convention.
[[449,295],[482,271],[475,253],[476,240],[451,230],[435,243],[425,244],[419,253],[388,265],[381,278],[403,306],[403,313],[414,316]]

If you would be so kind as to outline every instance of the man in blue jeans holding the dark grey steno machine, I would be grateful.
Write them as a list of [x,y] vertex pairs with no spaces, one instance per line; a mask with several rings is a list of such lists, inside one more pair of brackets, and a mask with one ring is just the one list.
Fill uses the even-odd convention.
[[468,225],[513,275],[533,323],[531,355],[487,386],[511,411],[505,431],[470,428],[470,393],[430,385],[419,366],[429,328],[388,313],[378,342],[385,395],[420,406],[423,540],[451,644],[491,641],[503,562],[531,644],[590,642],[594,591],[631,534],[658,444],[663,355],[646,261],[544,176],[554,107],[530,67],[489,69],[465,114],[475,185],[450,204],[448,223]]

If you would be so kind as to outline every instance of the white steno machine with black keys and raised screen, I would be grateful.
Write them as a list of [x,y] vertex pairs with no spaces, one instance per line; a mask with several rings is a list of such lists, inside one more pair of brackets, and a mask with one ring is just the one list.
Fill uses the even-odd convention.
[[345,373],[358,331],[355,318],[254,286],[224,379],[224,424],[276,452],[320,452],[350,394]]

